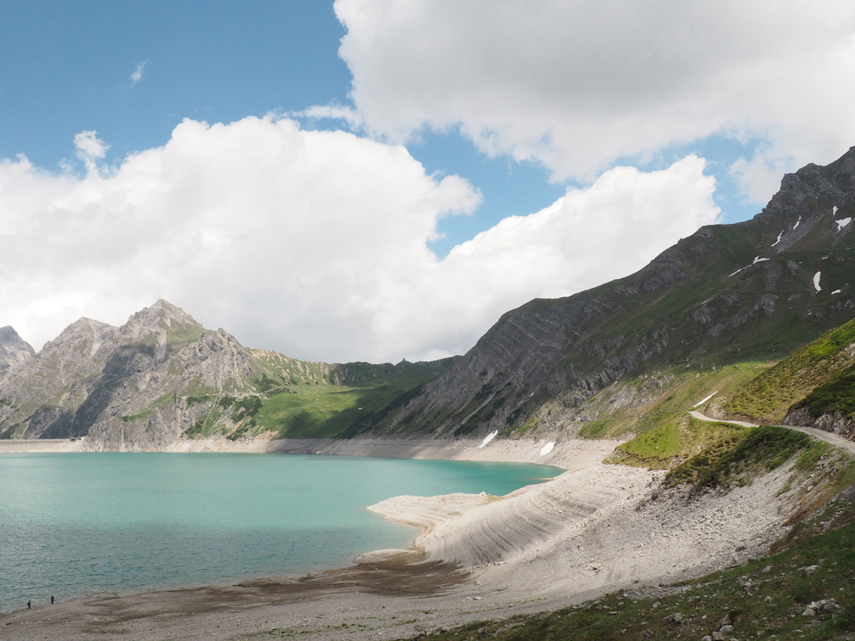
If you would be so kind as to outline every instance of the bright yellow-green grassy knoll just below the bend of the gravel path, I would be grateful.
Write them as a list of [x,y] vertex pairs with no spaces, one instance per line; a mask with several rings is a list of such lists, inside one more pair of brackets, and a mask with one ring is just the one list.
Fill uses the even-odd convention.
[[748,429],[732,423],[698,420],[687,414],[665,415],[656,427],[619,445],[606,462],[667,469]]

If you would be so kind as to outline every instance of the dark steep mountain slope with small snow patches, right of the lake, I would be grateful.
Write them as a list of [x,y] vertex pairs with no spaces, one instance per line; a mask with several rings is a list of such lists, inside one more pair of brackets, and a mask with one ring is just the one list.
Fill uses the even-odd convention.
[[514,436],[576,420],[628,377],[778,360],[855,313],[853,217],[855,148],[785,175],[751,221],[703,226],[626,278],[508,312],[374,431]]

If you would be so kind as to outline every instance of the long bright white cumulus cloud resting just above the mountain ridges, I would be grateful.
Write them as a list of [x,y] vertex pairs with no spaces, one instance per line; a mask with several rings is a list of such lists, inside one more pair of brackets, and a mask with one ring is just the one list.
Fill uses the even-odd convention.
[[[106,151],[95,132],[75,144],[93,164]],[[0,322],[38,348],[81,315],[121,324],[163,297],[300,358],[461,353],[508,309],[625,275],[714,221],[704,168],[611,169],[440,260],[439,219],[479,192],[349,132],[186,120],[109,172],[0,160]]]

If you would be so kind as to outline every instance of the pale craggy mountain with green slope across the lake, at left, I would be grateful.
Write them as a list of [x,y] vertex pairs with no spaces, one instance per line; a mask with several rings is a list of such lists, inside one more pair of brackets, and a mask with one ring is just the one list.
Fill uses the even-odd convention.
[[14,368],[0,382],[0,438],[159,450],[182,438],[336,435],[450,363],[302,362],[248,350],[161,300],[121,327],[75,321]]

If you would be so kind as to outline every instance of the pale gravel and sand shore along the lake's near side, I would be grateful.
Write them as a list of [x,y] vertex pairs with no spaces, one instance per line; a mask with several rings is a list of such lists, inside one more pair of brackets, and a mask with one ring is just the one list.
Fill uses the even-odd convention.
[[[661,490],[661,473],[601,463],[614,443],[592,443],[556,444],[551,451],[569,470],[506,497],[392,497],[370,506],[419,528],[412,550],[366,552],[353,567],[299,578],[37,604],[0,616],[0,637],[409,638],[744,560],[780,535],[798,491],[779,492],[788,476],[779,469],[728,494],[689,501],[679,490]],[[469,450],[487,456],[490,445]],[[524,448],[539,453],[543,444]]]

